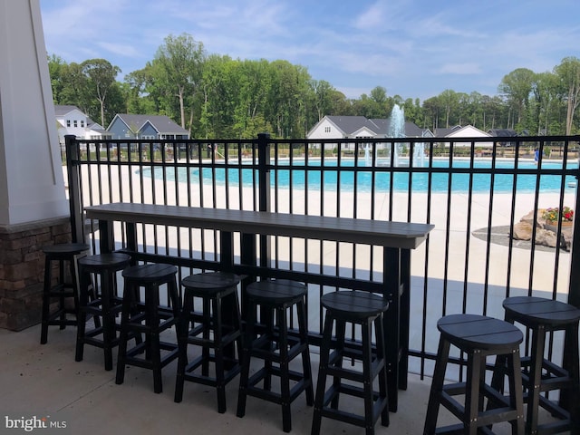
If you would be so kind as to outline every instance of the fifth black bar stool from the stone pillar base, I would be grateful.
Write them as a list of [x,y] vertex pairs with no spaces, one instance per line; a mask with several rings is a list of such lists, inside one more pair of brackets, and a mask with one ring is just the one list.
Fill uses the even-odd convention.
[[[306,285],[285,279],[263,280],[247,286],[247,324],[244,334],[242,371],[237,398],[237,417],[246,413],[247,396],[282,405],[283,430],[292,430],[290,404],[306,392],[306,404],[314,404],[314,389],[308,327],[305,312]],[[288,315],[292,317],[296,306],[298,331],[289,334]],[[256,327],[257,309],[260,308],[260,328]],[[302,355],[303,372],[292,371],[289,364]],[[264,367],[249,377],[252,358],[264,360]],[[277,364],[276,366],[273,363]],[[272,375],[280,379],[280,392],[272,391]],[[295,385],[290,388],[290,380]],[[263,382],[260,388],[257,384]]]

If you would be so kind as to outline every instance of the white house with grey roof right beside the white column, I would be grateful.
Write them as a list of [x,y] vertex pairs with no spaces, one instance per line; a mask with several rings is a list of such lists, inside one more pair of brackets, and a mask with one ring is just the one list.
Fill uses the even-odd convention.
[[57,122],[58,139],[64,145],[64,136],[73,134],[77,139],[104,140],[111,139],[111,133],[100,124],[92,121],[84,112],[73,105],[54,104],[54,115]]

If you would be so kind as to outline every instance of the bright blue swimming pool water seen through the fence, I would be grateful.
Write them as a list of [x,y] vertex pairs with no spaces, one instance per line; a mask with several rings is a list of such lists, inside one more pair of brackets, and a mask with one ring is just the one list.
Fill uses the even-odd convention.
[[[343,160],[341,162],[345,168],[353,168],[353,160]],[[356,189],[358,192],[370,192],[372,186],[372,172],[364,170],[364,162],[359,161],[359,171],[355,174],[350,170],[341,171],[339,174],[333,168],[336,168],[336,161],[324,161],[324,189],[336,190],[338,186],[343,191],[353,191],[355,180]],[[475,168],[485,169],[491,168],[489,160],[481,160],[475,162]],[[453,162],[454,168],[469,168],[468,160],[455,160]],[[277,169],[271,172],[272,185],[277,182],[278,188],[287,189],[290,186],[290,178],[292,177],[293,189],[304,189],[308,184],[308,189],[320,189],[322,184],[322,177],[320,171],[320,161],[311,160],[308,162],[308,167],[300,168],[299,164],[294,161],[291,170]],[[307,170],[305,168],[310,168]],[[434,160],[433,168],[449,168],[449,161]],[[498,169],[513,169],[512,161],[497,161],[496,168]],[[561,169],[561,163],[543,163],[542,169]],[[576,169],[577,163],[568,163],[567,169]],[[518,164],[518,169],[536,169],[533,162],[521,162]],[[204,168],[202,170],[202,179],[204,183],[211,183],[215,178],[218,185],[223,185],[227,182],[230,186],[237,186],[240,180],[240,169],[210,169]],[[159,172],[158,172],[159,171]],[[199,169],[189,169],[189,177],[191,183],[199,182]],[[292,172],[292,174],[291,174]],[[150,176],[150,171],[144,169],[144,174]],[[307,175],[306,175],[307,174]],[[161,169],[156,169],[156,178],[161,178]],[[171,168],[166,169],[166,177],[174,179],[174,174]],[[339,181],[340,177],[340,181]],[[395,191],[407,191],[409,189],[409,173],[399,172],[392,174],[393,189]],[[428,189],[429,174],[428,173],[414,173],[411,175],[411,189],[413,192],[425,192]],[[178,169],[178,179],[180,182],[187,182],[187,169]],[[241,169],[241,182],[244,185],[251,186],[253,180],[257,180],[256,171],[253,169]],[[566,176],[565,189],[573,189],[575,184],[574,176]],[[559,191],[561,188],[562,178],[557,175],[541,175],[539,188],[541,191]],[[491,184],[491,174],[474,174],[472,180],[472,189],[474,192],[489,192]],[[511,192],[514,184],[514,176],[511,174],[495,174],[494,191],[495,192]],[[376,172],[374,174],[374,189],[375,191],[389,191],[391,189],[391,173]],[[433,173],[431,175],[431,191],[432,192],[446,192],[449,189],[449,174]],[[451,176],[451,190],[453,192],[467,192],[469,190],[469,174],[454,173]],[[518,192],[533,192],[536,190],[536,174],[518,175],[517,176],[517,191]]]

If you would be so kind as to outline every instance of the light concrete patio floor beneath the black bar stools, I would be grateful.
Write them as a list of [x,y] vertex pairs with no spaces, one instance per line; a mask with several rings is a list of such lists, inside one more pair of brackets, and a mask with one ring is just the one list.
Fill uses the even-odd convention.
[[[183,401],[173,401],[176,362],[164,369],[163,392],[152,391],[149,371],[131,367],[125,382],[115,384],[114,368],[105,372],[102,350],[85,346],[84,360],[74,361],[75,328],[49,329],[48,343],[39,344],[40,325],[22,332],[0,330],[1,367],[0,433],[31,433],[7,429],[8,419],[46,418],[60,429],[38,430],[54,434],[171,433],[266,435],[284,433],[278,405],[249,397],[244,418],[237,418],[237,378],[227,386],[227,412],[219,414],[214,389],[186,382]],[[113,353],[116,356],[116,351]],[[313,353],[314,379],[318,355]],[[375,427],[377,434],[420,434],[430,390],[430,378],[409,377],[409,388],[400,391],[399,411],[391,412],[391,425]],[[342,407],[356,410],[358,400],[341,399]],[[308,434],[313,408],[304,394],[292,405],[292,433]],[[440,423],[456,420],[440,412]],[[63,426],[66,426],[63,428]],[[511,433],[507,424],[494,427]],[[34,431],[32,431],[34,433]],[[364,433],[362,428],[323,419],[322,433],[343,435]]]

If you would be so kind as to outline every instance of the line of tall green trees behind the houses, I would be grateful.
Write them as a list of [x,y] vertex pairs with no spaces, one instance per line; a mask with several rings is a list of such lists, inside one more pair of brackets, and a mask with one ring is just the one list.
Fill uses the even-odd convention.
[[249,139],[261,131],[304,138],[324,115],[388,118],[399,104],[405,118],[431,131],[471,124],[530,135],[577,134],[580,60],[566,57],[552,72],[518,68],[498,83],[498,94],[445,90],[424,102],[390,96],[377,86],[346,98],[330,82],[314,80],[284,60],[232,59],[208,54],[189,34],[169,35],[144,68],[121,70],[105,59],[66,63],[48,59],[55,104],[73,104],[107,127],[116,113],[168,115],[191,137]]

